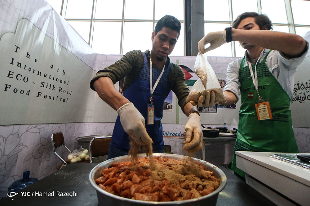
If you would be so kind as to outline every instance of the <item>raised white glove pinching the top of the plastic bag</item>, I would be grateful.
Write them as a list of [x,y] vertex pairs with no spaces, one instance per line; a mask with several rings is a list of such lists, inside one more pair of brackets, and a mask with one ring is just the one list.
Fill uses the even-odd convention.
[[[206,53],[212,49],[218,48],[222,44],[226,43],[226,31],[220,32],[210,32],[207,33],[199,42],[198,42],[198,51],[200,53]],[[208,48],[205,48],[206,44],[210,44]]]

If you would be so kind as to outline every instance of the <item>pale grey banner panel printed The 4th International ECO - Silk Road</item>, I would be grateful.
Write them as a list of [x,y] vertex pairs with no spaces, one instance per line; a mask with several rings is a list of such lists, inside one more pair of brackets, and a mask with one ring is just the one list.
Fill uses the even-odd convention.
[[[93,72],[28,19],[1,37],[1,124],[83,120]],[[81,98],[82,97],[82,98]]]

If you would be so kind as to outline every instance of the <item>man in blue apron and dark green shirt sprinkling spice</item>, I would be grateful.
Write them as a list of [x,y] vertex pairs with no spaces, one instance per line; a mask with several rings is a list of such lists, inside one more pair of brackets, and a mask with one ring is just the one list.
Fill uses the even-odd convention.
[[[118,113],[108,158],[126,155],[130,149],[130,138],[137,145],[152,143],[155,153],[163,152],[161,119],[164,100],[170,90],[188,116],[184,149],[189,152],[201,150],[202,128],[197,107],[186,103],[189,90],[184,72],[168,57],[180,29],[178,19],[170,15],[162,17],[152,33],[151,51],[128,52],[114,64],[98,71],[91,80],[91,89]],[[122,78],[123,95],[114,87]]]

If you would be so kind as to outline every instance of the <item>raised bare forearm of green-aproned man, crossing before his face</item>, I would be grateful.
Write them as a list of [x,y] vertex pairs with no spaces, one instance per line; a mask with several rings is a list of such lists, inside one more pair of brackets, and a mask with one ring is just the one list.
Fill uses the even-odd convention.
[[299,35],[269,30],[232,29],[232,40],[283,52],[287,57],[298,57],[306,46]]

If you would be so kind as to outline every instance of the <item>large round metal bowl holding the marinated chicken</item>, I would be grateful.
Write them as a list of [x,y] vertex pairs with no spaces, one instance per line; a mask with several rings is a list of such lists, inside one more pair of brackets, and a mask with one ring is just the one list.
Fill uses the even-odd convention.
[[[144,155],[145,156],[145,155]],[[144,156],[139,156],[139,157],[144,157]],[[177,154],[162,154],[162,153],[153,153],[153,156],[161,156],[161,157],[167,157],[175,160],[181,160],[184,158],[187,158],[186,156],[183,155],[177,155]],[[113,205],[113,206],[118,206],[118,205],[128,205],[128,206],[136,206],[136,205],[152,205],[152,204],[157,204],[157,205],[182,205],[182,206],[192,206],[192,205],[216,205],[217,197],[219,195],[219,192],[224,189],[227,183],[227,178],[226,175],[222,170],[220,170],[217,166],[214,166],[213,164],[193,158],[195,161],[200,162],[202,166],[206,170],[210,170],[213,172],[215,177],[219,178],[221,180],[221,184],[219,188],[217,188],[214,192],[198,197],[195,199],[191,200],[182,200],[182,201],[171,201],[171,202],[153,202],[153,201],[141,201],[141,200],[132,200],[124,197],[120,197],[117,195],[113,195],[107,191],[104,191],[98,185],[95,183],[95,179],[99,178],[101,176],[102,171],[109,167],[112,163],[119,163],[119,162],[128,162],[130,161],[130,157],[128,155],[113,158],[106,160],[104,162],[101,162],[97,166],[95,166],[91,172],[89,173],[89,181],[91,183],[91,186],[93,186],[96,191],[97,191],[97,197],[98,197],[98,204],[101,205]]]

